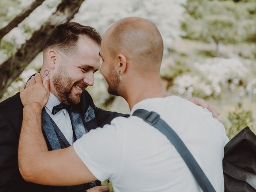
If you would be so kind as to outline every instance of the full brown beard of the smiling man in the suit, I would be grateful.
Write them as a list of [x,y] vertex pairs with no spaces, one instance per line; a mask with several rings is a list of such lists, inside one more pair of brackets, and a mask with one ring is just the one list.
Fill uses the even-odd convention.
[[[78,104],[80,102],[81,96],[73,95],[72,94],[72,88],[74,86],[74,80],[68,76],[68,73],[66,70],[64,70],[63,67],[60,67],[56,74],[53,76],[53,85],[54,88],[59,96],[60,102],[62,102],[65,105],[71,105],[71,104]],[[78,83],[76,83],[78,84]],[[86,85],[78,84],[78,86],[86,87]]]

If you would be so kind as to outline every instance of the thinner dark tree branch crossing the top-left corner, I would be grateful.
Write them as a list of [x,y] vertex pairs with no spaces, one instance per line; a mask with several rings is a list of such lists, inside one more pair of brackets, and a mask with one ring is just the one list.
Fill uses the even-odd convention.
[[10,32],[14,27],[18,26],[27,16],[30,15],[38,6],[40,6],[44,0],[35,0],[30,6],[16,16],[7,26],[0,30],[0,40]]

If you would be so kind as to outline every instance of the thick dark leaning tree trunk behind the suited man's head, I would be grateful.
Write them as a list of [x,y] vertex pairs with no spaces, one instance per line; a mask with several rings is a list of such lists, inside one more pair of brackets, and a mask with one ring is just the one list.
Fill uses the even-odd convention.
[[43,50],[46,37],[55,26],[70,21],[84,0],[62,0],[50,18],[34,32],[16,53],[0,65],[0,98],[26,66]]

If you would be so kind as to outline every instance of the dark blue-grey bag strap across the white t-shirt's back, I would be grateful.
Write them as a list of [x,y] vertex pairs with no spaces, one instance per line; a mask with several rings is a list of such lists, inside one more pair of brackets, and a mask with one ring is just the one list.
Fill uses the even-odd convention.
[[195,158],[190,153],[185,144],[182,142],[180,137],[164,120],[160,118],[160,115],[158,113],[153,111],[149,112],[144,109],[137,109],[132,115],[142,118],[145,122],[157,128],[168,138],[168,140],[170,140],[170,142],[173,144],[180,156],[183,158],[184,162],[187,164],[194,178],[204,192],[216,192],[212,184],[204,174],[203,170],[198,165]]

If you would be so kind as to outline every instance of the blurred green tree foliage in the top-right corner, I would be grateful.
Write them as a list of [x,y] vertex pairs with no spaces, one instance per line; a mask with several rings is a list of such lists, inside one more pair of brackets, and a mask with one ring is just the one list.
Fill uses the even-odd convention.
[[256,1],[188,0],[184,38],[205,42],[256,42]]

